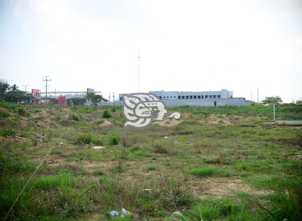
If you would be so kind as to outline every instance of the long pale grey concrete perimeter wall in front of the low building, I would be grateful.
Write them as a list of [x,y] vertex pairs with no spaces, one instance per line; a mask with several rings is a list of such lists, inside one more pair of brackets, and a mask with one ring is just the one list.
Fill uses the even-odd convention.
[[[244,98],[206,98],[206,99],[166,99],[163,102],[168,106],[180,106],[180,105],[191,105],[191,106],[206,106],[214,107],[214,101],[216,101],[216,106],[228,105],[228,106],[245,106],[252,105],[252,101],[246,101]],[[119,106],[122,101],[118,102],[102,102],[99,106]],[[89,104],[87,104],[89,106]]]

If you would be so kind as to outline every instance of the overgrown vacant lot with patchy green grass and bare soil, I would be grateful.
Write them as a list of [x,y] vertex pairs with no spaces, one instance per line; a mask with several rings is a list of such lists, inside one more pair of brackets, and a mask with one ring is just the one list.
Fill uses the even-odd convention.
[[[181,120],[141,130],[105,109],[0,103],[2,219],[50,150],[8,219],[302,218],[302,127],[263,125],[272,107],[173,107]],[[299,120],[302,107],[276,115]],[[122,207],[131,216],[108,215]]]

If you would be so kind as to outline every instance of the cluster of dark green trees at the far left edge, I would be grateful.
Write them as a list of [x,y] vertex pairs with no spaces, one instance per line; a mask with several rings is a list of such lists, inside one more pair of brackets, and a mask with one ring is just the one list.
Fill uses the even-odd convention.
[[0,99],[12,103],[29,102],[32,95],[26,94],[25,91],[21,91],[18,88],[16,84],[9,85],[7,80],[0,79]]

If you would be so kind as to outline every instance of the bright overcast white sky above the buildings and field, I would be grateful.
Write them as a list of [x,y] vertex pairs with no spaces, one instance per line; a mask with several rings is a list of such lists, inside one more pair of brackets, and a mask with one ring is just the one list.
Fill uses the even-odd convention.
[[[138,52],[140,51],[140,84]],[[19,89],[302,98],[302,1],[0,0],[0,78]]]

